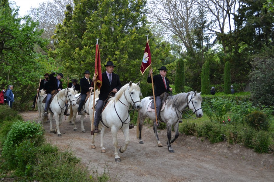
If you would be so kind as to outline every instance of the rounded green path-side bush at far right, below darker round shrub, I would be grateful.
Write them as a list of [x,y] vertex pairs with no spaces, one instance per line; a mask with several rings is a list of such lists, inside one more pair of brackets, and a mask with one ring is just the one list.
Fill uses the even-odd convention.
[[263,153],[268,152],[270,145],[270,134],[266,131],[259,131],[253,138],[254,151]]

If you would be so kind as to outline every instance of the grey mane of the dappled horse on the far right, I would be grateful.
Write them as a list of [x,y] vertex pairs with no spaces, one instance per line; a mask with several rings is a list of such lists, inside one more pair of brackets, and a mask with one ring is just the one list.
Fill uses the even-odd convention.
[[[187,93],[180,93],[176,95],[169,95],[166,100],[166,107],[172,106],[173,104],[178,108],[180,105],[187,103],[187,97],[190,94],[194,94],[194,91]],[[199,94],[196,94],[197,98],[202,101],[202,97]]]

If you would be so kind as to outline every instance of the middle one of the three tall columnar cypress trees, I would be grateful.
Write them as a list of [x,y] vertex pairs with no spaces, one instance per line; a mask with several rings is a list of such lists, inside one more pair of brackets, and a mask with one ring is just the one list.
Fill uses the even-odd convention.
[[202,91],[202,94],[210,94],[209,62],[208,61],[206,61],[202,67],[201,91]]

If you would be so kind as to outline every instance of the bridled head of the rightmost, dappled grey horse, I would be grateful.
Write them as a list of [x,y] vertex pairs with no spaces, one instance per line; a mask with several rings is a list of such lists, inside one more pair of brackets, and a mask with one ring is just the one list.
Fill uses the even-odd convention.
[[187,97],[187,104],[188,107],[193,111],[194,114],[196,114],[196,117],[202,117],[203,116],[203,110],[201,107],[202,104],[202,97],[201,92],[197,93],[197,91],[190,92],[190,94]]

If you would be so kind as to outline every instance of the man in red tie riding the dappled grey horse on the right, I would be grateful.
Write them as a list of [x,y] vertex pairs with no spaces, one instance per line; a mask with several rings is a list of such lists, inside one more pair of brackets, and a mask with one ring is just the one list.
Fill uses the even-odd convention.
[[[172,91],[172,88],[169,86],[169,79],[166,78],[167,69],[165,66],[162,66],[158,69],[160,74],[153,76],[153,83],[154,83],[154,94],[155,94],[155,101],[156,101],[156,112],[157,112],[157,120],[159,120],[159,114],[162,106],[162,99],[160,95],[167,91]],[[147,78],[148,83],[152,83],[151,81],[151,74],[152,69],[149,70],[149,76]]]

